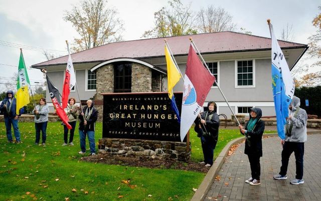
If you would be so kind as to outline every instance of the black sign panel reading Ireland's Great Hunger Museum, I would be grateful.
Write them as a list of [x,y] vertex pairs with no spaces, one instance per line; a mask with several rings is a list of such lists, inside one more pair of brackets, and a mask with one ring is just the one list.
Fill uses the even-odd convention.
[[[174,94],[181,112],[183,93]],[[168,93],[103,95],[103,138],[181,141],[180,124],[172,110]]]

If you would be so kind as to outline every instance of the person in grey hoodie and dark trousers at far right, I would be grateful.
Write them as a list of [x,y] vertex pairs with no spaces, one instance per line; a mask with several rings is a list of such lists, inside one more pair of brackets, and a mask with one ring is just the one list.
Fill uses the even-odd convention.
[[303,181],[303,155],[304,142],[306,136],[307,115],[305,110],[299,108],[300,98],[293,96],[292,103],[289,105],[289,117],[285,126],[285,139],[282,140],[282,166],[278,175],[273,176],[274,179],[287,179],[286,171],[289,157],[294,152],[296,175],[291,184],[302,184]]

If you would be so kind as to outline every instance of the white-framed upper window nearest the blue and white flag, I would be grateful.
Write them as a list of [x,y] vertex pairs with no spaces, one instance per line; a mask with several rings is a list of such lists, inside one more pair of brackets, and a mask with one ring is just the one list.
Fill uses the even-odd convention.
[[255,87],[254,60],[236,61],[236,86]]

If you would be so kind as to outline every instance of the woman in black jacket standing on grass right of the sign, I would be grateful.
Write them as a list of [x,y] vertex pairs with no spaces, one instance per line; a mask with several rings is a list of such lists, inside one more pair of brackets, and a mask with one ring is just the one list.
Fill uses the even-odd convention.
[[201,138],[202,150],[206,167],[213,165],[214,149],[217,144],[220,118],[215,112],[216,104],[213,101],[208,103],[208,111],[199,114],[195,120],[194,130]]

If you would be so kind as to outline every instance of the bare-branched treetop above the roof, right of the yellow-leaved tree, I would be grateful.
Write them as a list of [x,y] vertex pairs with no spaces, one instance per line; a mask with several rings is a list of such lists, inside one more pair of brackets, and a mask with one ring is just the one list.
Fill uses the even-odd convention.
[[213,5],[207,9],[202,8],[197,15],[197,28],[200,33],[213,33],[222,31],[234,31],[236,24],[232,22],[232,16],[223,8],[215,8]]

